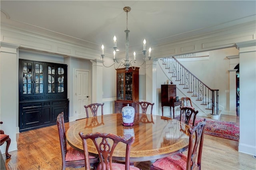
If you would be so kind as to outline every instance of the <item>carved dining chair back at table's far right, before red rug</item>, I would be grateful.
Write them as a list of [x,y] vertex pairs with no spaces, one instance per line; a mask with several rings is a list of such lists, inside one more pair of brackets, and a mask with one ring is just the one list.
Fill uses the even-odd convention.
[[193,108],[191,107],[180,107],[180,121],[182,121],[182,115],[184,115],[184,123],[186,123],[186,125],[189,125],[190,119],[193,115],[193,123],[192,126],[195,125],[195,121],[196,121],[196,115],[198,114],[198,111],[195,111]]

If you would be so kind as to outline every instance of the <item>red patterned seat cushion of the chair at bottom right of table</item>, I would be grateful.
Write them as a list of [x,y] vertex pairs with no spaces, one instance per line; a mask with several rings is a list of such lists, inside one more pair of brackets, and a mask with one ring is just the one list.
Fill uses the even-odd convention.
[[152,165],[162,170],[186,170],[187,156],[178,153],[166,158],[158,159]]

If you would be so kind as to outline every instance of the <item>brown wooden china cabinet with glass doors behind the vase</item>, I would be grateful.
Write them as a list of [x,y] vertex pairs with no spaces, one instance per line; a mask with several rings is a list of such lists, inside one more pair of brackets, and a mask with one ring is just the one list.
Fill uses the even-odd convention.
[[135,113],[138,112],[138,107],[135,101],[139,101],[139,67],[116,69],[116,101],[115,113],[121,113],[124,106],[134,107]]

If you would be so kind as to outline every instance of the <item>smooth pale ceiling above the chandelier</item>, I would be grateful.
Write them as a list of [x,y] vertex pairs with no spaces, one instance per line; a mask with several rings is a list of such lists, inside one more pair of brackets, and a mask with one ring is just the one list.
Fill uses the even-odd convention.
[[147,49],[160,43],[174,42],[229,26],[256,20],[254,0],[1,0],[1,24],[10,24],[44,34],[70,38],[112,50],[125,49],[126,12],[130,49]]

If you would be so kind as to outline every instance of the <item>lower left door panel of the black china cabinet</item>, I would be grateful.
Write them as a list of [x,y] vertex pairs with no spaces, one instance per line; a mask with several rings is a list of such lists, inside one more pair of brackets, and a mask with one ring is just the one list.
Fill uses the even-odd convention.
[[26,110],[22,112],[22,127],[34,127],[41,125],[42,109]]

